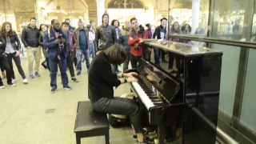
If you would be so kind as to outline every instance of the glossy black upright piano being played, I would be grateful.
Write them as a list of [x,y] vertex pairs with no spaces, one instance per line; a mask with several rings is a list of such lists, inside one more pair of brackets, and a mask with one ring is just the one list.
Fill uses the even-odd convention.
[[[143,123],[152,128],[149,137],[159,144],[215,144],[222,52],[165,40],[143,46],[152,53],[142,58],[138,82],[130,88],[144,111]],[[154,56],[159,49],[168,62]]]

